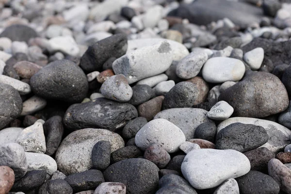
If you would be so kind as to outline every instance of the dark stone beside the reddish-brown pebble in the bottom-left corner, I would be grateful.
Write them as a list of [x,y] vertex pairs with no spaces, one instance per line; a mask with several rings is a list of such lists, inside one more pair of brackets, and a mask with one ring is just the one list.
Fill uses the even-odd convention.
[[47,177],[45,170],[32,170],[25,174],[24,177],[14,182],[11,191],[29,191],[44,184]]

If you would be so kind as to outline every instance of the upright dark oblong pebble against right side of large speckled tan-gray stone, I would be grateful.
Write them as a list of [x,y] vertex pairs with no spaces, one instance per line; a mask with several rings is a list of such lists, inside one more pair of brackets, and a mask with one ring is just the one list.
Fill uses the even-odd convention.
[[97,142],[92,149],[92,165],[98,170],[106,169],[110,164],[111,145],[108,141]]

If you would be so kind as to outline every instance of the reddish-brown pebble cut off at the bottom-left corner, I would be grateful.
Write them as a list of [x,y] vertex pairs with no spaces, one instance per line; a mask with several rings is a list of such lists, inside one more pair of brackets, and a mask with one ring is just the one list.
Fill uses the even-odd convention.
[[9,166],[0,166],[0,194],[8,194],[14,184],[14,171]]

